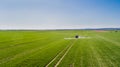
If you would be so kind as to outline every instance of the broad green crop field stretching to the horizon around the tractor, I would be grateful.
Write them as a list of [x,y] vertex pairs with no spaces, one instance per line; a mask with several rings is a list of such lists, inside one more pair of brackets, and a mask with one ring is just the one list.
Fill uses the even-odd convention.
[[120,31],[3,30],[0,67],[120,67]]

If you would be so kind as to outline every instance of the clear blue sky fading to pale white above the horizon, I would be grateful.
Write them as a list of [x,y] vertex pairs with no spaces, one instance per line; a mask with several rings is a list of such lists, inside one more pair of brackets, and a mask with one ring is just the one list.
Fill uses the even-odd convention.
[[0,29],[120,27],[120,0],[1,0]]

